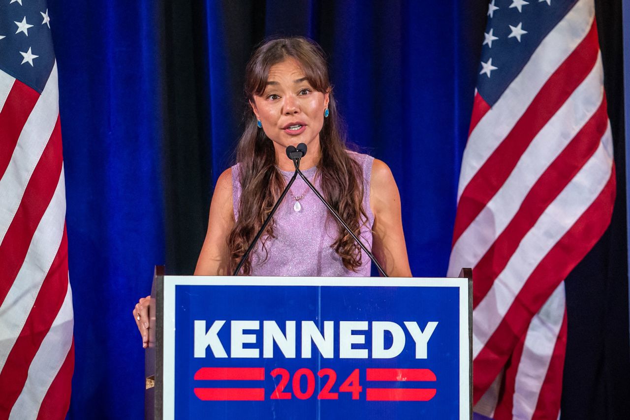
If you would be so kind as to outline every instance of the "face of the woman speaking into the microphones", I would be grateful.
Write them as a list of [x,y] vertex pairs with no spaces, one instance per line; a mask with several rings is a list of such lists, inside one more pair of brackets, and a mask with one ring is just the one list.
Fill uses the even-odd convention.
[[276,156],[283,156],[287,146],[300,143],[307,145],[312,157],[319,155],[319,132],[324,125],[328,93],[312,88],[297,60],[272,65],[265,92],[254,96],[251,106],[262,130],[273,140]]

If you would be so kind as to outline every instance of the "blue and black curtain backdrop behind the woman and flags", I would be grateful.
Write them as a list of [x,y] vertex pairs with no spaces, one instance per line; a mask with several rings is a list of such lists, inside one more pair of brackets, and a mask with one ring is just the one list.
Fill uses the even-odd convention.
[[[508,0],[497,0],[497,3]],[[617,162],[610,229],[566,283],[563,418],[630,412],[621,1],[597,1]],[[486,0],[49,0],[59,66],[76,367],[71,419],[140,418],[131,310],[152,267],[191,274],[269,35],[329,54],[350,140],[401,191],[416,276],[444,275]]]

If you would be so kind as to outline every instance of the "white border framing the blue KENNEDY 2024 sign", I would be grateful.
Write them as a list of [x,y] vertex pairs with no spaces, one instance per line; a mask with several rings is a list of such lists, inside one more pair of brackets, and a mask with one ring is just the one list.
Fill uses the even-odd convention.
[[384,277],[234,277],[164,276],[163,415],[175,419],[175,287],[176,286],[376,286],[459,288],[459,418],[470,417],[468,279]]

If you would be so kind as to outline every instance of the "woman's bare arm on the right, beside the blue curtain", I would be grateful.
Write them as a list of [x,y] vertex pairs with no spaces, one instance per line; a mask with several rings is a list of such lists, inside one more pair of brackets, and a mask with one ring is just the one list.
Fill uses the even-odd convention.
[[374,159],[370,182],[370,207],[374,213],[372,252],[391,277],[411,277],[404,244],[400,195],[394,176],[384,162]]

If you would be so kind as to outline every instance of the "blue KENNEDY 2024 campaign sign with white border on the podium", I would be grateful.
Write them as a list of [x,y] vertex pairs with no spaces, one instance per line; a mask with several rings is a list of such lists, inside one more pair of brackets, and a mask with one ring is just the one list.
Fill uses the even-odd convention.
[[467,279],[164,278],[164,417],[468,419]]

